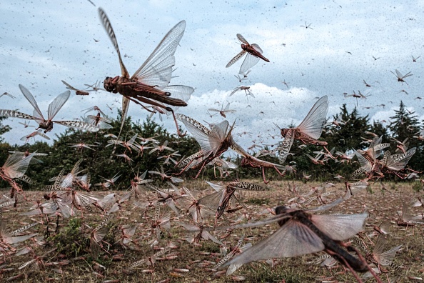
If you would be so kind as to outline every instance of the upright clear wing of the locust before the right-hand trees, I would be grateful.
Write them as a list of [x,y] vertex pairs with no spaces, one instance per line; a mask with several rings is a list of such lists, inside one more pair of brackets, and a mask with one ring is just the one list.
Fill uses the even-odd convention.
[[311,110],[305,119],[297,126],[296,129],[303,134],[311,136],[313,139],[319,139],[323,132],[325,117],[328,112],[328,97],[325,95],[313,104]]

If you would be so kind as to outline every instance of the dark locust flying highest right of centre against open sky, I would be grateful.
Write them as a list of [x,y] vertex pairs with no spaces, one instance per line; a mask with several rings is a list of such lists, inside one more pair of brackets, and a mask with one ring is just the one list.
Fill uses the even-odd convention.
[[236,63],[236,61],[238,61],[238,59],[240,59],[246,53],[246,58],[244,59],[243,64],[241,64],[238,74],[245,74],[248,69],[251,69],[251,67],[258,63],[259,59],[269,62],[269,60],[262,55],[263,51],[261,47],[258,46],[258,44],[249,44],[241,34],[237,34],[237,38],[242,42],[241,49],[243,50],[228,62],[226,68]]

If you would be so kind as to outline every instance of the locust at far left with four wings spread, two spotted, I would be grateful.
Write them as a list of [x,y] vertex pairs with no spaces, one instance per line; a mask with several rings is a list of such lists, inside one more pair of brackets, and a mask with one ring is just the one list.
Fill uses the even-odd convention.
[[91,126],[90,124],[87,124],[84,121],[53,121],[54,116],[56,116],[57,112],[59,112],[62,106],[64,106],[66,101],[68,101],[69,96],[71,95],[70,91],[65,91],[64,93],[59,94],[59,96],[57,96],[54,101],[51,101],[51,104],[49,104],[49,110],[47,112],[48,118],[46,120],[44,119],[44,116],[41,113],[39,106],[37,105],[34,96],[32,96],[31,92],[29,92],[29,90],[21,84],[19,84],[19,89],[21,89],[22,94],[24,94],[25,98],[29,101],[31,106],[34,107],[34,116],[24,114],[19,111],[6,109],[0,109],[0,116],[9,116],[13,118],[34,120],[39,124],[39,127],[37,129],[44,129],[44,133],[46,133],[47,131],[51,131],[53,129],[54,123],[69,126],[71,128],[83,129],[86,131],[99,131],[98,128],[96,128],[95,126]]

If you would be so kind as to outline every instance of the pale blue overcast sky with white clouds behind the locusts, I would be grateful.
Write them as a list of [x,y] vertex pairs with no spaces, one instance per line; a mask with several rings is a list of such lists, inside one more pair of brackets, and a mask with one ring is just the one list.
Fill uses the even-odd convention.
[[[389,121],[400,100],[423,118],[424,101],[418,97],[424,98],[424,57],[416,62],[412,58],[424,55],[423,1],[93,2],[96,6],[89,1],[2,2],[0,93],[7,91],[16,99],[0,97],[0,109],[32,114],[31,105],[19,91],[18,84],[23,84],[46,116],[49,103],[66,90],[62,79],[83,88],[106,76],[120,75],[118,56],[99,20],[97,8],[101,6],[111,20],[131,75],[168,30],[186,20],[173,72],[178,77],[171,84],[192,86],[196,91],[188,106],[178,111],[201,122],[218,122],[222,117],[211,118],[206,110],[221,109],[230,102],[236,113],[228,114],[227,119],[231,124],[237,119],[234,132],[252,133],[235,135],[245,147],[281,140],[271,139],[279,134],[273,123],[282,127],[298,124],[324,95],[330,104],[328,116],[338,113],[344,103],[352,110],[356,99],[345,98],[343,93],[360,91],[370,96],[358,100],[358,110],[369,114],[371,121]],[[238,33],[261,46],[271,61],[259,61],[242,83],[235,75],[243,59],[225,67],[241,51]],[[395,69],[402,74],[411,71],[413,76],[405,79],[408,84],[390,73]],[[244,91],[229,97],[242,84],[251,86],[255,98]],[[116,117],[120,104],[119,94],[99,91],[76,96],[73,91],[56,119],[81,118],[81,110],[94,105]],[[143,120],[148,113],[131,103],[129,115]],[[23,144],[19,139],[34,130],[24,129],[19,121],[25,120],[3,121],[13,128],[4,135],[11,144]],[[158,116],[156,121],[161,123]],[[35,126],[34,121],[31,124]],[[172,119],[164,117],[163,124],[175,132]],[[54,138],[65,129],[56,125],[49,136]]]

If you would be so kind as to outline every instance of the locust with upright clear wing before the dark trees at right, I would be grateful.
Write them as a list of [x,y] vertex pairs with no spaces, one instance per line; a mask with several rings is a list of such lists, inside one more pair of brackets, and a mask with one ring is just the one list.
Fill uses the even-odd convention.
[[286,161],[295,139],[299,139],[303,142],[303,144],[315,144],[322,146],[325,151],[328,152],[328,149],[325,147],[327,142],[318,141],[321,133],[323,132],[327,112],[328,97],[325,95],[313,104],[312,109],[308,112],[305,119],[303,119],[299,126],[296,126],[296,128],[281,129],[281,135],[284,137],[284,140],[278,146],[278,158],[280,164],[283,164]]

